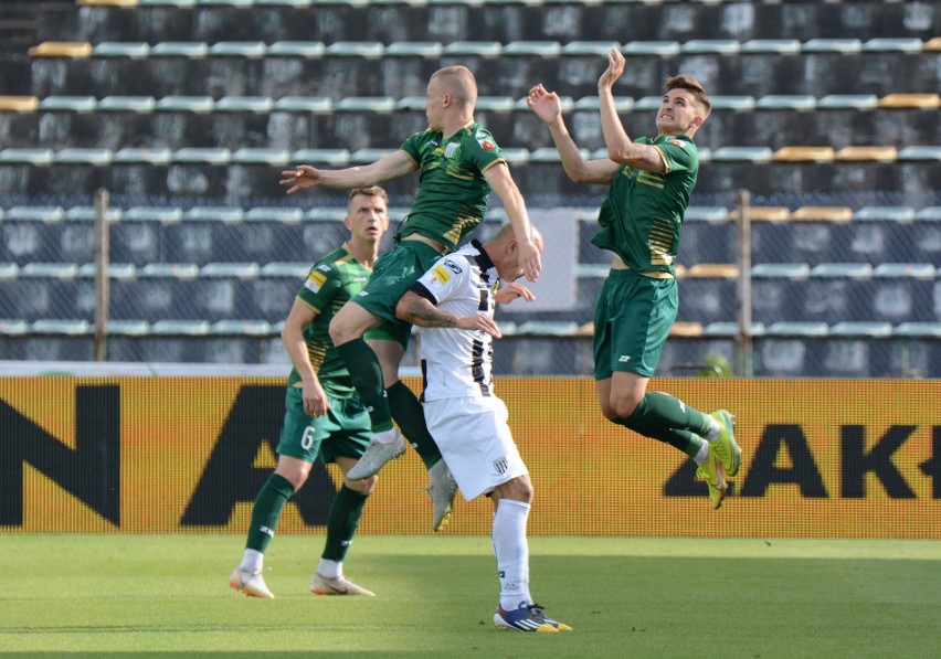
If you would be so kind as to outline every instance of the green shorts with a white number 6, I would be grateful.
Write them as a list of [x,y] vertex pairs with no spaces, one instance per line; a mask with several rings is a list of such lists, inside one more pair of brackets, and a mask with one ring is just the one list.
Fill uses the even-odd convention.
[[372,436],[369,413],[355,395],[350,398],[327,396],[330,411],[310,418],[304,412],[300,387],[290,386],[284,397],[286,412],[278,455],[314,463],[318,457],[325,465],[337,457],[359,459]]

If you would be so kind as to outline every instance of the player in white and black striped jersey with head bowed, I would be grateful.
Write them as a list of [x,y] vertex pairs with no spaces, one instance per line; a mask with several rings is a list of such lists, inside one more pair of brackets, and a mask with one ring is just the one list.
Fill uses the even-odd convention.
[[[542,252],[542,236],[532,227]],[[526,521],[532,482],[507,425],[507,408],[494,395],[493,340],[497,302],[532,300],[512,281],[524,275],[510,225],[491,241],[477,241],[443,256],[399,300],[395,315],[421,329],[425,422],[454,480],[469,501],[494,502],[493,541],[500,580],[497,627],[519,631],[569,631],[546,617],[529,593]],[[507,285],[499,287],[500,281]]]

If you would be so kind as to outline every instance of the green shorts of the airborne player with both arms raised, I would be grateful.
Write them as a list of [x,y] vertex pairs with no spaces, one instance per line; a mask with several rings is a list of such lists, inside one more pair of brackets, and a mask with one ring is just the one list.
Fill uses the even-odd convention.
[[614,371],[652,378],[678,307],[676,279],[612,269],[594,308],[594,379]]

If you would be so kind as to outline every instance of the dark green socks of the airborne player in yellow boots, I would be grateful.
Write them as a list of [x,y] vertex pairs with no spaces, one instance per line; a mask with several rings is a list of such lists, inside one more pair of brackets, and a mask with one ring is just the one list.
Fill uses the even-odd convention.
[[648,392],[634,413],[618,417],[614,423],[632,431],[665,442],[689,457],[696,456],[709,432],[710,423],[705,414],[685,405],[679,398]]

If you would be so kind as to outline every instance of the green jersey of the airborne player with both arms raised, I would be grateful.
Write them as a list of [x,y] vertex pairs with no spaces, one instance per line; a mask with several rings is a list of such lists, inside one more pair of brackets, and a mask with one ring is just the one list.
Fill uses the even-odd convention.
[[676,275],[683,214],[699,171],[699,151],[685,135],[642,137],[637,144],[653,145],[666,163],[664,173],[622,166],[601,204],[601,231],[591,242],[614,252],[637,273]]

